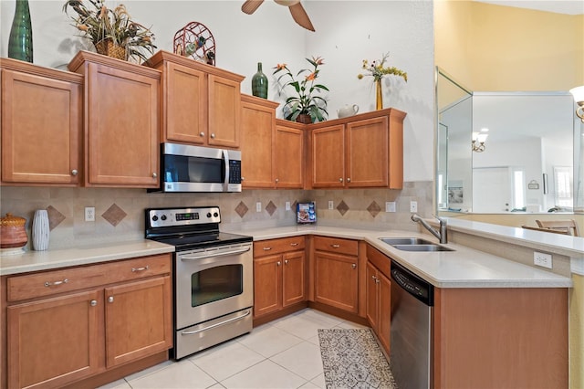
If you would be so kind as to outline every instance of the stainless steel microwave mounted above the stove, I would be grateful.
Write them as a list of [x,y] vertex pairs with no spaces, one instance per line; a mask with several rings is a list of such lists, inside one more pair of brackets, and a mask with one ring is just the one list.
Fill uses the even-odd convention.
[[241,152],[162,143],[158,192],[241,192]]

